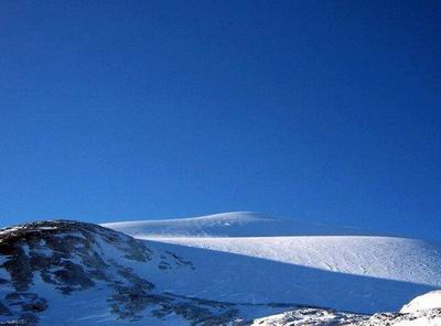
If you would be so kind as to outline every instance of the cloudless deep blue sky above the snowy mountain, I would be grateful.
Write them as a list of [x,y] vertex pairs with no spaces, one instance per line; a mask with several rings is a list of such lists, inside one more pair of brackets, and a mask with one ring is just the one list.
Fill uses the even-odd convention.
[[439,1],[1,1],[0,225],[256,210],[441,240]]

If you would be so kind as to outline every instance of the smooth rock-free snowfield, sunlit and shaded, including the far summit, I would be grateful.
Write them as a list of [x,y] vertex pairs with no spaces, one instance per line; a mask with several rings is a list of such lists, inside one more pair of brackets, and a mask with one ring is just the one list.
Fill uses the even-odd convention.
[[194,271],[162,281],[207,300],[374,313],[441,287],[441,246],[422,240],[252,213],[105,226],[191,260]]

